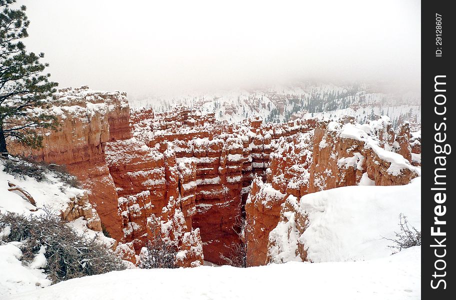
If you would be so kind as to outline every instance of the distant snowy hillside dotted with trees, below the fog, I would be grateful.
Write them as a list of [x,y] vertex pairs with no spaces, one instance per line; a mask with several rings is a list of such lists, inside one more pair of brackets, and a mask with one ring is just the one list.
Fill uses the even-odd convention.
[[[259,116],[262,120],[274,122],[288,121],[291,114],[294,118],[330,118],[342,115],[353,116],[358,122],[364,123],[380,115],[388,115],[391,119],[421,119],[419,93],[409,91],[381,93],[372,92],[370,86],[341,86],[325,82],[292,82],[277,86],[264,86],[260,89],[214,90],[207,93],[148,95],[141,99],[130,98],[130,107],[152,107],[156,112],[168,110],[174,105],[185,105],[198,109],[200,114],[212,112],[218,121],[239,122],[251,116]],[[373,88],[374,90],[377,88]],[[309,113],[305,108],[312,101],[329,100],[329,92],[340,93],[342,98],[333,99],[334,105],[322,107],[323,112]],[[342,96],[345,94],[345,96]],[[349,99],[348,99],[349,98]],[[345,103],[346,101],[350,103]],[[342,104],[342,102],[344,104]],[[278,110],[283,107],[283,113]],[[343,108],[342,107],[347,107]]]

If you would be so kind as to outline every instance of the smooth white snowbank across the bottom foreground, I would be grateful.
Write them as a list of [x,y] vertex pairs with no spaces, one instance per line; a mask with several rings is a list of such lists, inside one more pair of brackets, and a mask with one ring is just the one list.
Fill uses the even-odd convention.
[[[279,274],[279,275],[278,275]],[[176,278],[178,288],[176,288]],[[264,285],[270,282],[269,285]],[[6,299],[420,299],[420,247],[367,261],[302,263],[235,268],[127,269],[70,279]]]

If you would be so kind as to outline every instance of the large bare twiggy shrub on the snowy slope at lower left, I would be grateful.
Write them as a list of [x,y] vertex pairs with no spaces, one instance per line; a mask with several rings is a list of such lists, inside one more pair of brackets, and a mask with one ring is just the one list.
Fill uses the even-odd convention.
[[47,264],[44,272],[53,283],[75,277],[121,270],[125,265],[107,246],[77,233],[52,213],[21,215],[8,212],[0,215],[0,232],[10,228],[2,241],[22,242],[21,260],[31,262],[44,247]]

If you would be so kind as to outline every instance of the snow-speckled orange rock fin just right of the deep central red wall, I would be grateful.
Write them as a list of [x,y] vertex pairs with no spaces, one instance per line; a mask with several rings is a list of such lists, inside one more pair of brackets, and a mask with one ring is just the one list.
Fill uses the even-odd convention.
[[[313,130],[278,139],[270,154],[266,183],[255,177],[245,204],[247,264],[266,260],[269,232],[277,225],[285,198],[307,193]],[[249,244],[248,244],[249,243]]]

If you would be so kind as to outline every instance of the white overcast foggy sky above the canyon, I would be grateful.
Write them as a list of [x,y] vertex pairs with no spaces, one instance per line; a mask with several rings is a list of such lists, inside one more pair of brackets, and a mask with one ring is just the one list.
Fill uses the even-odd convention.
[[[129,95],[296,78],[419,84],[419,0],[17,0],[61,87]],[[405,78],[405,80],[403,80]]]

